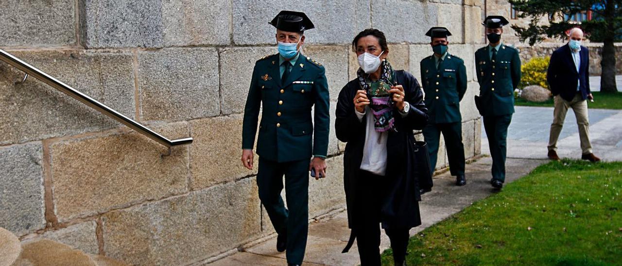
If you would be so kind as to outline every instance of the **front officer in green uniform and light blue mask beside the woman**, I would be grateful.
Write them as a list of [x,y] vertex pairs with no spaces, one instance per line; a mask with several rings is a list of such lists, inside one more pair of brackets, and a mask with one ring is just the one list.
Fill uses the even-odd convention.
[[[287,263],[299,265],[307,245],[309,171],[315,172],[316,180],[326,177],[328,84],[324,67],[300,53],[304,30],[313,29],[307,15],[281,11],[269,24],[276,27],[279,53],[255,63],[244,108],[242,163],[253,168],[262,106],[257,141],[259,199],[278,234],[277,250],[287,250]],[[287,208],[281,198],[283,176]]]

